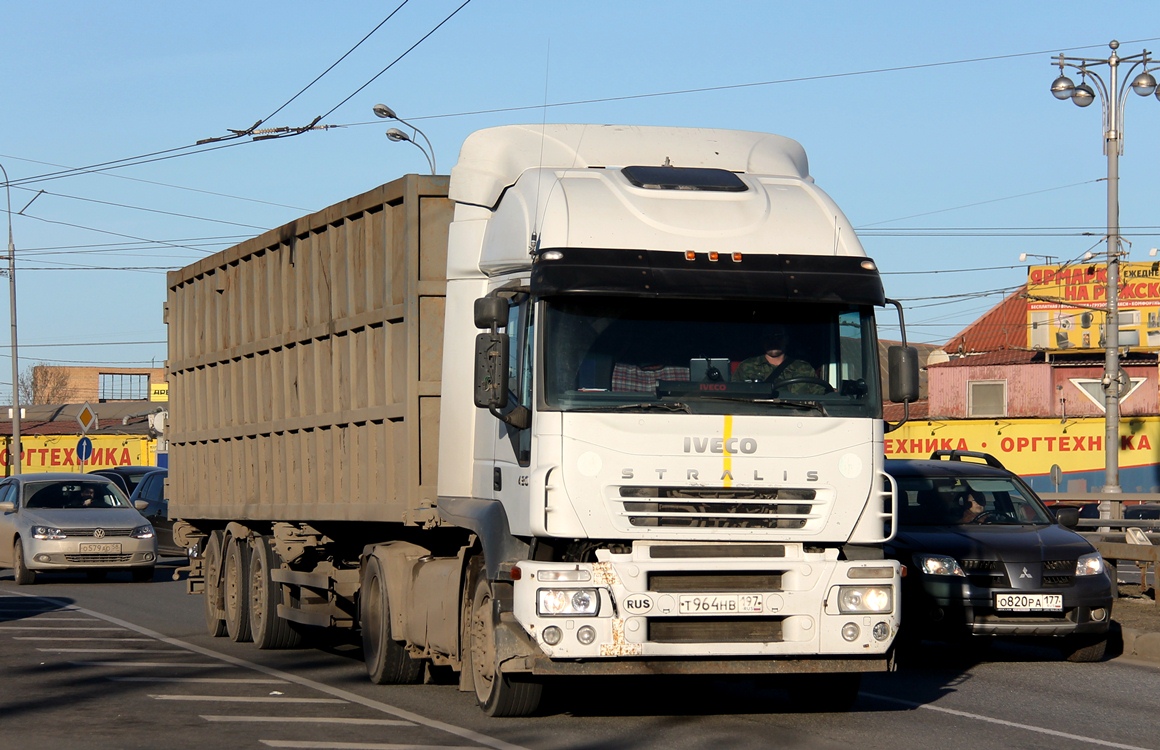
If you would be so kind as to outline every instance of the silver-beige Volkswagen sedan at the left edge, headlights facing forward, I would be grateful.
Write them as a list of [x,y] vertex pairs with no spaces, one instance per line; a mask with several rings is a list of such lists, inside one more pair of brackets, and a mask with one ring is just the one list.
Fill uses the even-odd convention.
[[93,474],[21,474],[0,482],[0,568],[16,583],[38,573],[129,570],[152,581],[153,526],[121,489]]

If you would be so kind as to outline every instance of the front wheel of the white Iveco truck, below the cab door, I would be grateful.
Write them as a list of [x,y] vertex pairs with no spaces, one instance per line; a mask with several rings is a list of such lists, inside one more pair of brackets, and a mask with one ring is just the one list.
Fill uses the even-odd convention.
[[471,597],[471,675],[476,700],[488,716],[527,716],[539,707],[544,686],[524,675],[500,671],[495,649],[498,622],[492,583],[479,570]]

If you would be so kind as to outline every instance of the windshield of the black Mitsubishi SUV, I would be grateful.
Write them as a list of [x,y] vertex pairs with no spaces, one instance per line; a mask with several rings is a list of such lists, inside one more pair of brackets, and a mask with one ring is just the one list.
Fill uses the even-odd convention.
[[899,476],[898,509],[904,526],[1051,524],[1038,498],[1003,476]]

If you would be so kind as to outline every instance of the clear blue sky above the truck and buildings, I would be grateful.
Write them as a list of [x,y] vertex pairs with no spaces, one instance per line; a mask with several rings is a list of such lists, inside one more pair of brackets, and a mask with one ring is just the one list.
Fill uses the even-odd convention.
[[[377,102],[426,132],[441,173],[471,131],[519,122],[795,138],[904,300],[911,338],[943,343],[1025,281],[1020,253],[1063,261],[1103,247],[1099,107],[1051,96],[1052,56],[1105,58],[1114,38],[1122,56],[1160,49],[1154,3],[1132,1],[1099,13],[1070,1],[400,2],[10,3],[0,165],[13,212],[32,201],[13,217],[22,369],[160,366],[166,269],[425,172],[416,148],[384,137]],[[171,151],[271,114],[263,126],[324,116],[336,128]],[[31,180],[144,154],[182,155]],[[1130,260],[1160,245],[1158,173],[1160,101],[1130,95]],[[8,343],[0,334],[0,399]]]

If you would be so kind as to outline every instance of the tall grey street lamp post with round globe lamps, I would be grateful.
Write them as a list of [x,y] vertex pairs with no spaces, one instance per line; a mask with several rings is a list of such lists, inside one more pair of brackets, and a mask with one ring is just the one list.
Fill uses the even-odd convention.
[[[1051,83],[1051,93],[1056,99],[1070,99],[1078,107],[1087,107],[1099,95],[1103,108],[1103,152],[1108,156],[1108,305],[1104,319],[1104,357],[1103,357],[1103,393],[1104,393],[1104,486],[1101,491],[1119,493],[1119,395],[1125,389],[1124,372],[1119,367],[1119,259],[1124,255],[1119,240],[1119,154],[1124,147],[1124,104],[1128,103],[1128,90],[1140,96],[1157,94],[1157,80],[1148,72],[1152,63],[1148,51],[1139,54],[1119,57],[1116,50],[1119,42],[1115,39],[1108,45],[1111,54],[1108,58],[1067,57],[1060,54],[1053,65],[1059,66],[1059,78]],[[1119,80],[1121,64],[1130,64],[1123,83],[1128,82],[1132,71],[1139,66],[1144,70],[1132,79],[1130,86]],[[1093,67],[1108,66],[1108,80],[1104,81]],[[1080,83],[1076,86],[1064,74],[1064,68],[1071,67],[1080,72]],[[1095,82],[1093,88],[1088,79]]]

